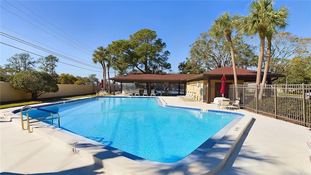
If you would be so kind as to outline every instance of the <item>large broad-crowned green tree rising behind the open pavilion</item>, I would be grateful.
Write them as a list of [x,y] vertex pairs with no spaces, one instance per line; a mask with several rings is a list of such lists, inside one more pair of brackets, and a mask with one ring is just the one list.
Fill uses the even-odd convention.
[[113,41],[109,50],[114,55],[114,68],[121,72],[137,69],[142,73],[153,73],[155,70],[169,70],[167,62],[169,51],[163,51],[166,43],[157,38],[155,31],[142,29],[129,40]]

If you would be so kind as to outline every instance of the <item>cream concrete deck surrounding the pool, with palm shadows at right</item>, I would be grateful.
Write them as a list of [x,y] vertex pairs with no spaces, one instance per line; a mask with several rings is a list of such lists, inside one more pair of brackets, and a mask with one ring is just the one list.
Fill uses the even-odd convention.
[[[162,103],[164,105],[218,110],[217,105],[203,102],[184,102],[178,97],[162,97]],[[132,174],[122,170],[118,171],[118,169],[111,171],[109,165],[104,165],[103,168],[103,166],[95,164],[94,160],[90,161],[87,157],[73,154],[69,149],[55,144],[51,138],[43,136],[36,130],[33,133],[21,130],[20,119],[13,120],[14,122],[8,120],[12,116],[10,111],[20,108],[0,110],[1,173]],[[219,110],[229,111],[227,109]],[[309,158],[311,152],[306,143],[311,140],[307,133],[308,128],[242,109],[234,110],[234,112],[242,113],[253,119],[226,161],[224,169],[218,173],[219,175],[311,174]],[[87,146],[86,144],[83,145]],[[139,169],[139,165],[128,164],[127,166]],[[196,168],[178,169],[171,167],[165,171],[161,171],[159,168],[152,170],[152,172],[154,174],[198,174],[193,170]]]

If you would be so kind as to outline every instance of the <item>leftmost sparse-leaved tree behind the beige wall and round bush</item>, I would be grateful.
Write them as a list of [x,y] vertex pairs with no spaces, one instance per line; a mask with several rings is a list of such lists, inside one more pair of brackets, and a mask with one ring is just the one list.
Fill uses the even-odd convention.
[[5,64],[7,70],[11,70],[12,74],[17,74],[23,70],[34,70],[35,69],[35,61],[33,61],[33,57],[30,56],[29,53],[16,53],[11,58],[8,58],[8,64]]

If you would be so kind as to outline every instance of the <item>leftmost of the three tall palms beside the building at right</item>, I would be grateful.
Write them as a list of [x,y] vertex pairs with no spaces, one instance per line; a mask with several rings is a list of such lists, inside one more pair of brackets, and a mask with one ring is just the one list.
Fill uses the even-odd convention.
[[231,34],[233,30],[237,29],[239,26],[240,16],[234,14],[233,17],[230,16],[230,13],[223,13],[220,17],[214,20],[214,23],[210,29],[210,34],[213,37],[221,38],[225,36],[225,38],[229,41],[230,51],[231,51],[231,59],[232,59],[232,68],[233,68],[233,76],[234,76],[234,89],[235,89],[235,96],[238,97],[238,76],[237,70],[235,65],[235,53],[234,48],[231,40]]

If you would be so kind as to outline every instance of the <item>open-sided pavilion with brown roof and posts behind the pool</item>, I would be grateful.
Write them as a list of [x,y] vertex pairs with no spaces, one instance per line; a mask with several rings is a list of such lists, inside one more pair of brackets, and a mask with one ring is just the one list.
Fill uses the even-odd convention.
[[[195,76],[196,74],[147,74],[147,73],[139,73],[139,74],[129,74],[129,75],[121,75],[117,77],[110,78],[109,80],[113,81],[113,92],[115,94],[115,85],[116,82],[121,83],[146,83],[148,95],[151,93],[153,83],[174,83],[178,84],[178,93],[180,95],[180,85],[183,84],[186,88],[187,79]],[[186,89],[184,88],[183,93],[185,94]]]

